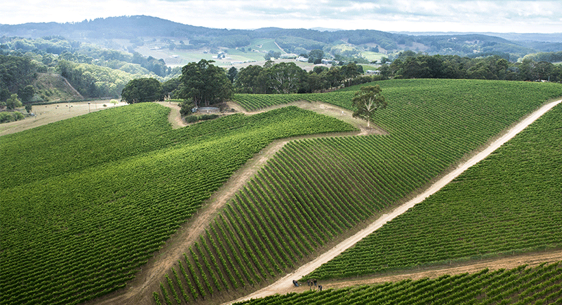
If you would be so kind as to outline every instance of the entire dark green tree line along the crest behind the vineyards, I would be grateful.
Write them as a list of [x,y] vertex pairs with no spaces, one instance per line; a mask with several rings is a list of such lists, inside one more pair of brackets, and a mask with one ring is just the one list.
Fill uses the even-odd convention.
[[[318,50],[320,51],[320,50]],[[321,54],[309,53],[315,61]],[[442,78],[484,80],[550,80],[562,82],[562,66],[550,62],[509,62],[500,56],[461,58],[460,56],[428,56],[404,51],[390,63],[379,67],[380,75],[364,75],[363,66],[350,62],[336,66],[315,66],[306,72],[295,62],[267,61],[263,66],[250,65],[228,71],[212,61],[191,62],[180,77],[164,83],[145,78],[134,80],[123,89],[124,101],[135,103],[162,100],[164,96],[184,99],[182,114],[196,107],[228,101],[234,93],[290,94],[325,92],[390,78]],[[158,86],[160,84],[160,86]]]

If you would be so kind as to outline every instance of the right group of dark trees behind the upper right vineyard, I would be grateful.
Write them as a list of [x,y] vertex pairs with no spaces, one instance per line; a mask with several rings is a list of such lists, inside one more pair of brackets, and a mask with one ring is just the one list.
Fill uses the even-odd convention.
[[413,51],[400,53],[391,64],[381,66],[380,72],[388,78],[562,81],[562,66],[551,62],[535,62],[530,58],[521,62],[509,62],[500,56],[429,56]]

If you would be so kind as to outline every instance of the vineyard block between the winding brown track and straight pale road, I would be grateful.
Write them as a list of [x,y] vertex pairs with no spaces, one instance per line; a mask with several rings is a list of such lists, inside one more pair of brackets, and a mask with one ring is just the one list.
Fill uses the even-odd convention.
[[[191,290],[180,301],[193,302],[278,278],[343,232],[427,185],[547,99],[562,95],[555,84],[397,82],[389,88],[381,83],[389,106],[375,119],[389,135],[285,145],[210,224],[199,248],[186,249],[168,272],[172,278],[185,270],[184,278],[168,284],[163,279],[156,298]],[[341,99],[340,94],[318,96],[328,103]],[[343,272],[342,265],[337,268]]]

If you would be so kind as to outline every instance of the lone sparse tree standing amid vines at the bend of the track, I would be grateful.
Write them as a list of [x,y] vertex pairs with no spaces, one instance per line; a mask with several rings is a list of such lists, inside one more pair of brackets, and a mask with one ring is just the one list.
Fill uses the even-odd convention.
[[384,100],[380,86],[365,86],[357,91],[352,99],[356,107],[353,117],[359,117],[367,121],[367,127],[370,127],[371,119],[374,117],[377,109],[387,107],[387,101]]

